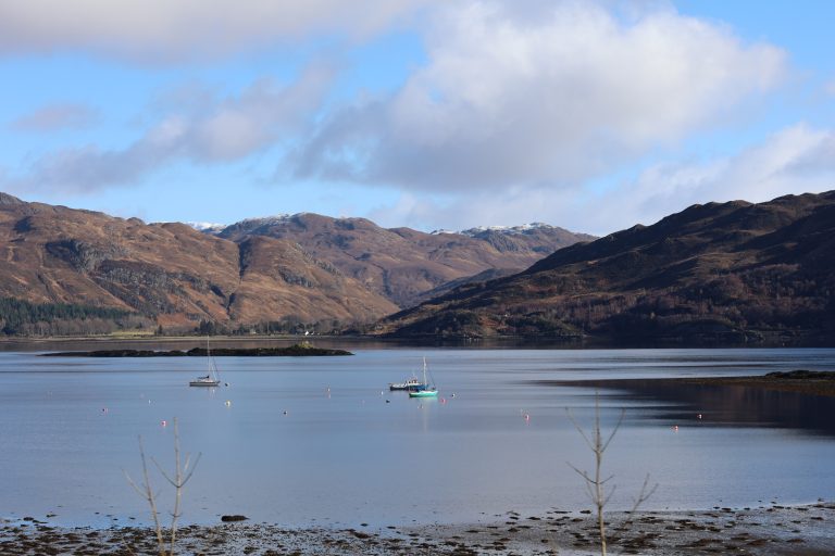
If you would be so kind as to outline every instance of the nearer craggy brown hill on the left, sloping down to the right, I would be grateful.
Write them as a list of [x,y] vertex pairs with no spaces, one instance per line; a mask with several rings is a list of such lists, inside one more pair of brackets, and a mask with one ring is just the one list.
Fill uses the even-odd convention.
[[149,225],[4,193],[0,253],[0,298],[47,304],[50,314],[55,304],[119,309],[134,316],[132,326],[345,324],[397,309],[292,241],[236,243],[184,224]]

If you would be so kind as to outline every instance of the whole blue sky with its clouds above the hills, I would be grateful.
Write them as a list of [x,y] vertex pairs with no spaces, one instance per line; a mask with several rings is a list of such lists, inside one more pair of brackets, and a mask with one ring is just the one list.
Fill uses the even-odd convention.
[[0,0],[0,191],[605,235],[835,189],[830,0]]

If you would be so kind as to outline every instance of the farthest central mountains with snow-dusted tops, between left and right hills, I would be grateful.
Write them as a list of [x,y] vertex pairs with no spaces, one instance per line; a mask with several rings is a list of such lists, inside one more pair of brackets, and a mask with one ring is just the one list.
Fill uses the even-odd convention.
[[365,218],[312,213],[251,218],[224,229],[207,229],[235,242],[270,237],[298,243],[399,307],[411,306],[426,291],[448,282],[486,270],[519,271],[560,248],[595,239],[545,224],[424,233],[382,228]]

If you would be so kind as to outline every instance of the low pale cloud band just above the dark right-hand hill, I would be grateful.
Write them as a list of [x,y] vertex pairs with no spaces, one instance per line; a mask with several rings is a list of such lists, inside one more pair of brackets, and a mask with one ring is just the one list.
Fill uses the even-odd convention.
[[835,189],[835,131],[799,124],[739,153],[700,162],[659,164],[602,194],[582,186],[510,187],[471,191],[441,201],[404,192],[372,219],[419,228],[466,228],[546,222],[606,235],[650,225],[695,203],[763,202],[784,194]]

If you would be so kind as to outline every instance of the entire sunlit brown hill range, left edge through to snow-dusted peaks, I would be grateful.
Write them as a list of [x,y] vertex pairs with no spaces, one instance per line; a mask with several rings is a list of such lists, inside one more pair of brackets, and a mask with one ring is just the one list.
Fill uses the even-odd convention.
[[485,240],[315,214],[198,226],[205,231],[0,193],[0,332],[339,330],[585,238],[540,225]]

